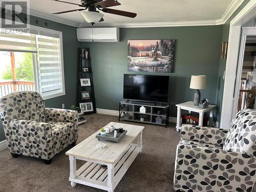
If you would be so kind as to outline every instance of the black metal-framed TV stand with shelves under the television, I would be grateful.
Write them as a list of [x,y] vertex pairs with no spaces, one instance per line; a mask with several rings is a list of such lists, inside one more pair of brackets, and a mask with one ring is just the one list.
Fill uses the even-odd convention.
[[[160,102],[144,102],[124,99],[119,102],[119,121],[136,121],[167,126],[169,122],[169,104]],[[152,105],[152,103],[154,105]],[[144,106],[146,113],[140,113],[141,106]],[[143,118],[144,117],[144,118]],[[159,118],[160,117],[160,118]],[[143,121],[141,120],[143,118]],[[159,119],[161,122],[159,122]]]

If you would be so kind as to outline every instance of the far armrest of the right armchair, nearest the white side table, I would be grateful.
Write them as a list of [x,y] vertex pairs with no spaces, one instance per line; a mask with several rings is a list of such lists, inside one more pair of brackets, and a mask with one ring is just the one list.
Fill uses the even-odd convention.
[[228,130],[183,124],[180,139],[223,146]]

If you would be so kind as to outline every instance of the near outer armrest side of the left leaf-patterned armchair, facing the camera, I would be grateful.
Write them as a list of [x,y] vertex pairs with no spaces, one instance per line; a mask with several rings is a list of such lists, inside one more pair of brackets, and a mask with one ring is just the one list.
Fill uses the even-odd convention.
[[48,123],[10,119],[5,134],[13,153],[45,159],[52,151],[52,129]]

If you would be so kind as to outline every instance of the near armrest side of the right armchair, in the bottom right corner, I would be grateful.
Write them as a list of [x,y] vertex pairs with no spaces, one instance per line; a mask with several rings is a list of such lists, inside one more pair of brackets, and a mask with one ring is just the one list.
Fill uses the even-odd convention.
[[241,152],[179,144],[174,187],[185,191],[251,191],[255,163]]

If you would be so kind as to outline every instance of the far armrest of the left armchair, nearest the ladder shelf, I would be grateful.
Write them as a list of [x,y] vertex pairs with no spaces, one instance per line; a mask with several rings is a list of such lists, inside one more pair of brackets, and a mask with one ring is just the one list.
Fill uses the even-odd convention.
[[45,117],[47,121],[71,122],[74,123],[75,129],[78,125],[77,111],[45,108]]

